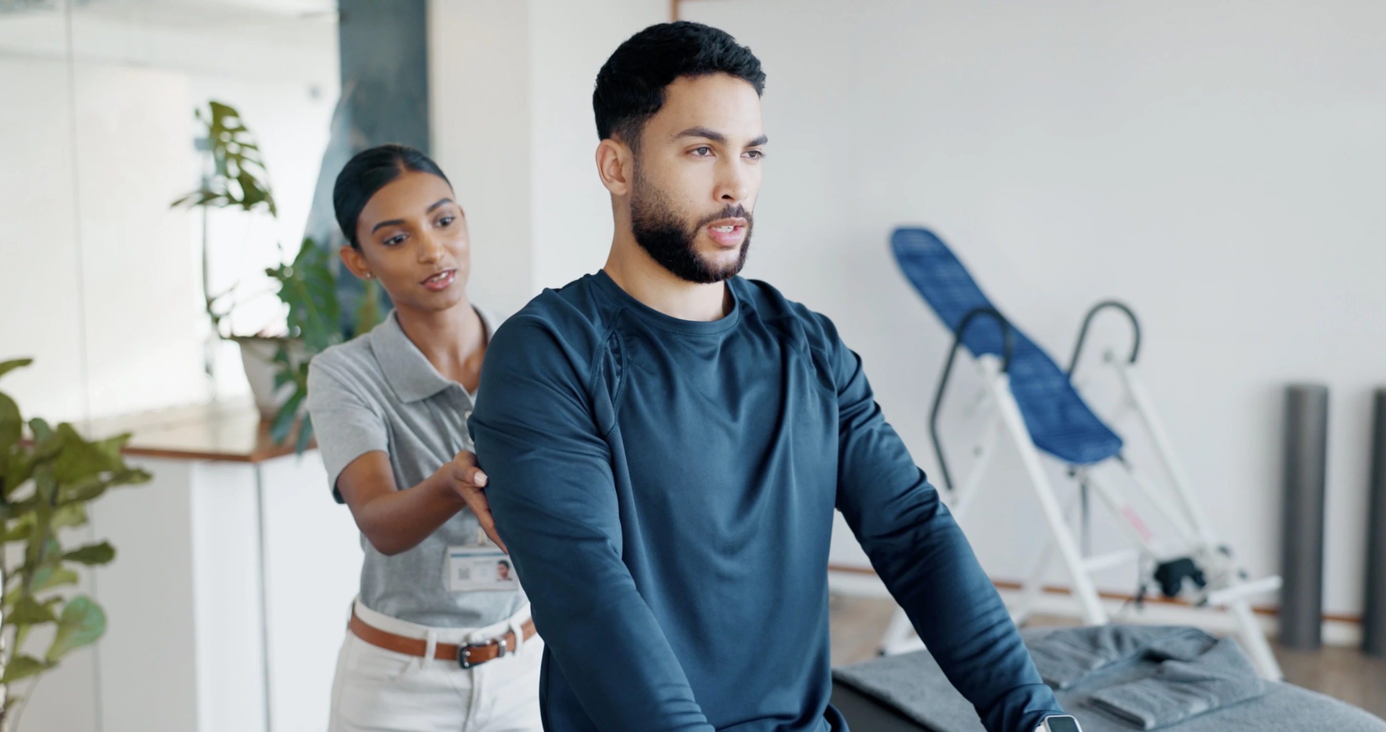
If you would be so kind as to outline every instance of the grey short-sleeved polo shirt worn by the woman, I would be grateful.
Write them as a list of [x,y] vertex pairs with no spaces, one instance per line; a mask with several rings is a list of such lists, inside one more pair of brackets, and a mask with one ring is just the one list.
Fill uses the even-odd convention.
[[[499,319],[477,309],[489,338]],[[395,312],[370,333],[334,345],[308,369],[308,410],[327,467],[333,496],[337,477],[371,451],[389,455],[395,484],[419,485],[453,455],[471,449],[471,397],[434,369],[405,336]],[[385,556],[362,537],[360,600],[399,620],[442,628],[480,628],[513,616],[524,591],[450,592],[448,549],[474,545],[477,517],[463,509],[419,546]]]

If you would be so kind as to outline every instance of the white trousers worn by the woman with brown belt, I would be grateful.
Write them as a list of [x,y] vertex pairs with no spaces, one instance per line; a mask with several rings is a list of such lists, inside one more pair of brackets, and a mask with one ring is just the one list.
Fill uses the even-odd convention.
[[428,642],[428,659],[373,646],[346,631],[337,657],[327,732],[541,732],[539,661],[543,640],[462,668],[432,659],[434,643],[491,640],[529,618],[525,606],[488,628],[431,628],[392,618],[356,600],[356,616],[383,631]]

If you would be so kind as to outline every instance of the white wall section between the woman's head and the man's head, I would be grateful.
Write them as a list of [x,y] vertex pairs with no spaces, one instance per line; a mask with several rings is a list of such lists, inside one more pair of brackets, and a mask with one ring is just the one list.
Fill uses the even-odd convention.
[[471,298],[510,313],[596,272],[611,204],[596,176],[592,86],[664,0],[428,4],[434,157],[467,211]]

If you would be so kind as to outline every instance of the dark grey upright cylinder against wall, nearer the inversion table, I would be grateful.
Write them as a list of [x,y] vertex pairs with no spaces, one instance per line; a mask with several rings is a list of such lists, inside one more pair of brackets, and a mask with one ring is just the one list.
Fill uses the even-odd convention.
[[1285,584],[1281,643],[1321,643],[1324,614],[1324,495],[1328,470],[1328,387],[1292,385],[1285,392]]

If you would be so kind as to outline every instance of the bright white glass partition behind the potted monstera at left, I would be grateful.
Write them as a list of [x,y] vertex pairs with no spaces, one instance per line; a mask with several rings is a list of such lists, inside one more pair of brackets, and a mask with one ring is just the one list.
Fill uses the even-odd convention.
[[283,329],[263,270],[304,233],[337,98],[335,19],[234,6],[79,7],[75,89],[60,12],[0,15],[0,79],[14,101],[0,110],[0,169],[11,173],[0,218],[14,222],[0,232],[0,359],[36,356],[4,384],[28,415],[73,420],[245,392],[234,344],[218,345],[216,388],[202,376],[201,218],[168,205],[198,184],[193,110],[208,98],[244,114],[280,207],[277,220],[213,214],[212,288],[241,284],[238,333]]

